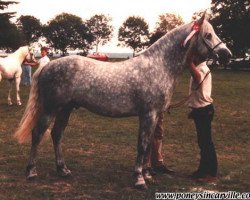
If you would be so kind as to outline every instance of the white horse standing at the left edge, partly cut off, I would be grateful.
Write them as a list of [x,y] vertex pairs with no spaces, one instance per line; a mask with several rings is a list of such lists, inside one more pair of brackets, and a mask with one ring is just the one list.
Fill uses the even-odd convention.
[[22,105],[19,95],[19,85],[21,82],[22,67],[21,64],[24,60],[34,59],[33,49],[28,46],[20,47],[14,53],[10,54],[6,58],[0,58],[0,82],[2,78],[9,80],[9,93],[8,93],[8,105],[12,105],[11,91],[13,80],[16,82],[16,99],[17,105]]

